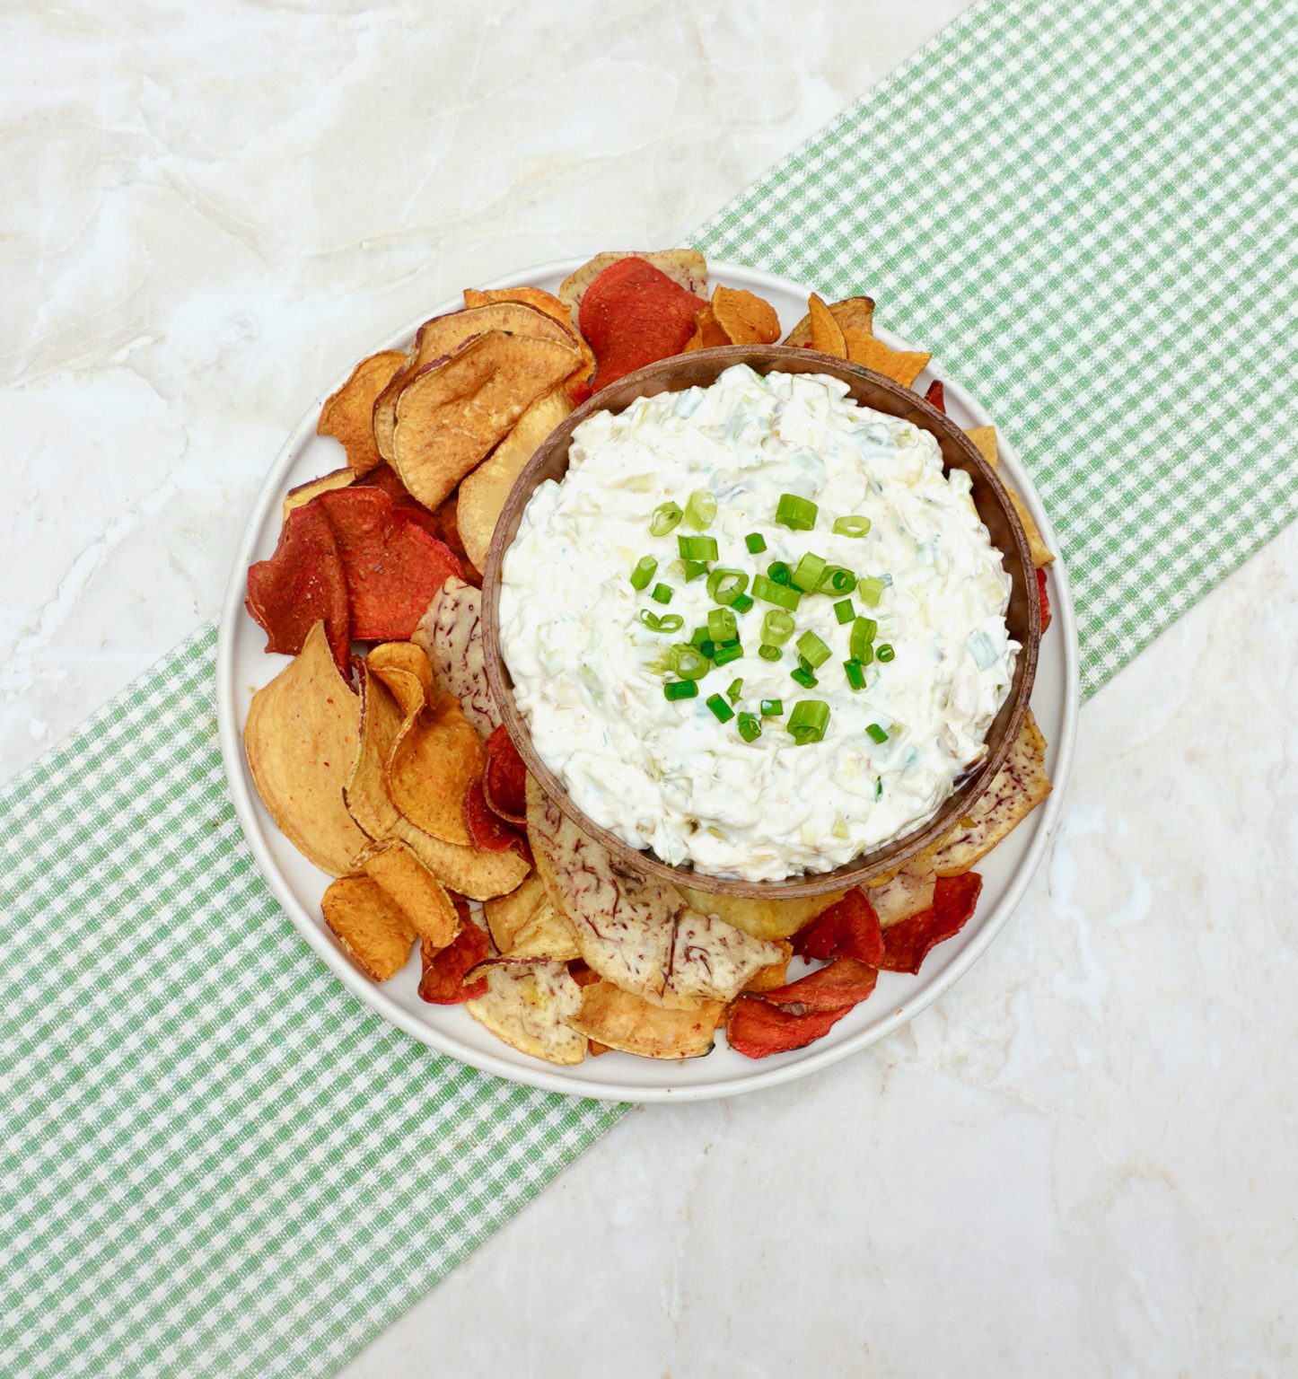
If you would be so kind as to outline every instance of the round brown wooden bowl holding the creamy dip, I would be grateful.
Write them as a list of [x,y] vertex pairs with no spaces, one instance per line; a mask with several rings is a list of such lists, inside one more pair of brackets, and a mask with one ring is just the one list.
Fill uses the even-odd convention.
[[[501,608],[501,561],[513,541],[532,491],[546,479],[561,479],[568,467],[568,444],[572,432],[593,412],[621,412],[639,397],[652,397],[657,393],[675,393],[687,387],[706,387],[732,364],[748,364],[759,374],[828,374],[847,383],[850,396],[865,407],[899,416],[931,432],[942,450],[942,462],[948,472],[963,469],[972,480],[972,499],[979,517],[986,524],[993,545],[1004,558],[1010,575],[1010,608],[1006,623],[1010,636],[1018,641],[1022,651],[1014,665],[1014,678],[1010,694],[992,720],[988,731],[988,754],[982,764],[971,771],[964,781],[943,801],[938,812],[923,827],[913,829],[887,843],[862,852],[844,866],[832,872],[814,872],[788,877],[783,881],[741,881],[709,876],[691,866],[670,866],[652,852],[633,848],[608,829],[600,827],[586,818],[568,798],[561,782],[539,758],[532,747],[527,723],[513,698],[513,681],[501,655],[499,608]],[[830,354],[819,354],[807,349],[792,349],[783,345],[746,346],[728,345],[723,349],[697,350],[692,354],[676,354],[659,360],[646,368],[628,374],[610,387],[597,393],[557,426],[541,448],[532,455],[527,469],[519,476],[509,499],[501,512],[487,553],[487,567],[483,571],[483,634],[487,655],[487,678],[491,694],[499,706],[505,729],[513,739],[527,769],[539,781],[546,794],[585,833],[608,848],[625,866],[644,876],[659,877],[695,887],[699,891],[727,895],[760,896],[764,899],[793,899],[806,895],[826,895],[858,885],[881,873],[901,867],[916,852],[923,851],[938,838],[950,833],[961,815],[968,814],[978,797],[992,783],[1000,771],[1010,746],[1017,736],[1028,712],[1032,694],[1032,680],[1036,674],[1037,650],[1041,637],[1041,607],[1037,594],[1036,575],[1028,554],[1028,538],[1010,502],[1010,495],[996,477],[995,470],[978,454],[972,441],[948,416],[930,407],[917,393],[894,383],[880,374]]]

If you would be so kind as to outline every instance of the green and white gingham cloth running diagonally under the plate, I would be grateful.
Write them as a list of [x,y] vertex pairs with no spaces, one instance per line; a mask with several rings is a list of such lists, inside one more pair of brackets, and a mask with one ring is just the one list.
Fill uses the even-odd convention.
[[[712,221],[968,383],[1094,690],[1298,509],[1283,0],[984,0]],[[248,855],[207,627],[0,794],[0,1375],[332,1371],[622,1109],[359,1007]]]

